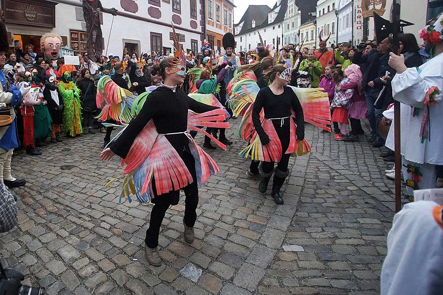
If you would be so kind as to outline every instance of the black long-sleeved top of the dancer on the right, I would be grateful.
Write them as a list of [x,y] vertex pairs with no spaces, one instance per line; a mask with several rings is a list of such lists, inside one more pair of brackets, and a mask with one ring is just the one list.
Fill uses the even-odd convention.
[[[292,89],[289,87],[285,87],[282,94],[275,95],[269,86],[258,91],[253,106],[252,119],[262,145],[269,143],[269,137],[263,130],[260,122],[261,109],[264,109],[265,118],[285,118],[291,116],[290,107],[294,109],[296,114],[295,123],[297,124],[297,138],[299,141],[301,141],[305,138],[305,120],[303,117],[302,106],[294,91],[292,91]],[[283,131],[284,129],[289,128],[289,120],[290,118],[285,119],[282,128],[280,128],[280,120],[272,120],[274,127],[276,127],[277,133],[279,133],[280,130]]]

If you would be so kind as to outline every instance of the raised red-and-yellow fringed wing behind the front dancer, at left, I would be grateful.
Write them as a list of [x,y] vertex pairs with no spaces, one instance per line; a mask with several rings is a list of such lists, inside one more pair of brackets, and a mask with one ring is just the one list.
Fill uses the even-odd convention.
[[97,108],[102,109],[96,117],[99,121],[113,119],[124,124],[129,123],[133,117],[131,114],[133,101],[132,93],[115,84],[111,77],[103,76],[98,80],[95,102]]

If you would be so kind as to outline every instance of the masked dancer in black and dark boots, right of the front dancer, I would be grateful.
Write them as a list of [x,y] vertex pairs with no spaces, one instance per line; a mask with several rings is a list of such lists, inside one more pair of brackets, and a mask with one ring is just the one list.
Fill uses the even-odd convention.
[[[289,124],[293,123],[291,122],[292,117],[290,117],[291,108],[295,111],[296,115],[295,123],[297,125],[297,140],[302,141],[305,138],[303,109],[294,91],[289,87],[286,87],[289,81],[280,78],[280,74],[284,70],[285,67],[280,64],[275,65],[272,68],[269,73],[271,85],[260,89],[255,98],[252,113],[253,124],[260,137],[261,144],[265,146],[269,143],[269,137],[264,131],[260,121],[260,112],[262,109],[264,110],[265,119],[272,121],[282,144],[282,158],[275,169],[271,194],[277,204],[284,204],[280,189],[285,182],[285,178],[289,175],[287,165],[289,163],[290,154],[285,154],[285,151],[289,146],[291,136]],[[260,166],[260,173],[263,178],[258,184],[258,189],[261,193],[266,192],[273,171],[274,162],[263,162]]]

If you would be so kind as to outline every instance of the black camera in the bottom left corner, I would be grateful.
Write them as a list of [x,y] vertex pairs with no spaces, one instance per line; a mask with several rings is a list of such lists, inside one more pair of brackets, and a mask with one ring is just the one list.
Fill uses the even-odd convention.
[[45,295],[43,287],[23,286],[22,281],[25,276],[13,269],[3,269],[1,267],[0,294],[1,295]]

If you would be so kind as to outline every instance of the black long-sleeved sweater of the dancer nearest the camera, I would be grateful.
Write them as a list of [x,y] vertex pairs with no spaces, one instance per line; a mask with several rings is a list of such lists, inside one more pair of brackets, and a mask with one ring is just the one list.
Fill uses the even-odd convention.
[[[179,88],[174,92],[166,87],[158,87],[149,94],[140,113],[131,120],[110,148],[115,154],[126,158],[135,138],[151,119],[154,120],[158,134],[183,132],[188,129],[188,110],[205,113],[215,109],[193,100]],[[166,138],[180,156],[188,147],[189,140],[185,134],[167,135]]]

